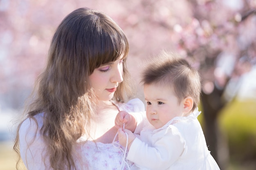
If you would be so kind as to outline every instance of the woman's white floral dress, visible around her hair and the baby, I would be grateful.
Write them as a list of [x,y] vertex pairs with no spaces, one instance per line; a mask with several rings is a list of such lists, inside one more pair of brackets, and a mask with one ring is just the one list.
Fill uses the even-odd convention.
[[[139,99],[132,99],[127,104],[114,102],[119,110],[127,112],[143,112],[144,104]],[[35,116],[38,121],[38,127],[43,124],[43,113]],[[139,115],[141,119],[141,115]],[[47,165],[47,160],[44,163],[44,141],[39,130],[36,131],[36,123],[31,119],[26,119],[20,127],[20,155],[28,170],[51,170]],[[27,141],[34,140],[29,144]],[[115,147],[113,144],[103,144],[101,142],[87,141],[86,143],[78,141],[75,146],[76,155],[75,163],[77,170],[121,170],[124,157],[124,149]],[[133,164],[125,161],[123,170],[129,169]]]

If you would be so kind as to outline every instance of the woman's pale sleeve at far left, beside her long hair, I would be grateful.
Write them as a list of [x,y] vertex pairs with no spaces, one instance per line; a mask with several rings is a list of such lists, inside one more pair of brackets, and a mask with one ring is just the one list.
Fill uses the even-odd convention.
[[28,170],[52,170],[45,156],[45,142],[36,121],[27,118],[20,126],[20,156]]

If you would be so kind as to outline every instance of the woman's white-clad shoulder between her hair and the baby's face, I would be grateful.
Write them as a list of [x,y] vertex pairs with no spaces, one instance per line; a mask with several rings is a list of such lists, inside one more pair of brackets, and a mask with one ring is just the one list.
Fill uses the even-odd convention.
[[127,112],[143,112],[143,111],[145,111],[144,103],[138,98],[131,99],[127,103],[116,102],[116,101],[112,101],[112,103],[115,104],[115,106],[117,106],[117,108],[120,111],[121,110],[125,110]]

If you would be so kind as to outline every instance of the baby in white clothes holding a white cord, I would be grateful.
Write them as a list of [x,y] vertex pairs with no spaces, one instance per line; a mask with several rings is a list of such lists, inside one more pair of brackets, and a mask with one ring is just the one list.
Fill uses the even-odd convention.
[[[119,143],[127,145],[126,159],[134,162],[131,169],[220,170],[197,119],[198,71],[177,54],[162,52],[146,66],[141,82],[147,120],[136,120],[136,113],[125,111],[115,119]],[[136,126],[143,127],[137,136],[132,133]]]

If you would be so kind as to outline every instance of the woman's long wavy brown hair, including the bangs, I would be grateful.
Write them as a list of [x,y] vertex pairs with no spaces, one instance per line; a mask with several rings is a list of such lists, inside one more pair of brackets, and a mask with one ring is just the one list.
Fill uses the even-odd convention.
[[[46,157],[49,157],[50,167],[54,170],[76,169],[73,147],[82,135],[90,136],[94,95],[88,77],[95,68],[124,55],[124,81],[119,84],[114,100],[124,102],[133,93],[125,64],[128,49],[124,32],[99,11],[77,9],[67,15],[56,29],[47,66],[37,79],[35,97],[25,111],[25,119],[34,121],[35,115],[44,115],[43,126],[38,130],[45,140]],[[13,147],[19,161],[18,132],[22,122]]]

